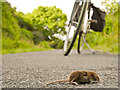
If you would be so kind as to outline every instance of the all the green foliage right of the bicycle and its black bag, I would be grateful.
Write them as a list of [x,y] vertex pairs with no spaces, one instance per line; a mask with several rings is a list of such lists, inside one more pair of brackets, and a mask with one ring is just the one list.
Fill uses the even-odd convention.
[[104,52],[118,53],[118,3],[113,0],[111,3],[105,0],[107,15],[106,26],[103,32],[92,32],[88,34],[87,41],[93,49]]

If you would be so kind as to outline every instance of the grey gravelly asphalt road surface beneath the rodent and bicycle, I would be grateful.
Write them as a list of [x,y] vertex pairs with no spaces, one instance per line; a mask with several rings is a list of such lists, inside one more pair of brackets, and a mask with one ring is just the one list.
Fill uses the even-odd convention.
[[[3,88],[118,88],[118,55],[89,50],[68,56],[62,50],[6,54],[2,56]],[[67,79],[72,71],[95,71],[101,82],[94,84],[46,83]]]

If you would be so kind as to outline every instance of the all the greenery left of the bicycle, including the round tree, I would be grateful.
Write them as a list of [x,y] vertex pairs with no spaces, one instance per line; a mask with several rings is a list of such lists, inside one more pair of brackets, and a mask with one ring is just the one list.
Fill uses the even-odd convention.
[[40,6],[32,14],[23,14],[2,2],[2,53],[51,50],[49,42],[60,42],[56,48],[62,48],[62,40],[56,40],[54,35],[66,33],[66,20],[67,16],[55,6]]

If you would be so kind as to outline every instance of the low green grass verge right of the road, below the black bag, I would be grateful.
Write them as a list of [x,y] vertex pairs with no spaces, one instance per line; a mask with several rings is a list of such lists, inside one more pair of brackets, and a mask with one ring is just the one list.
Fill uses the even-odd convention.
[[[86,40],[93,50],[118,54],[118,34],[102,35],[101,32],[93,32],[87,34]],[[78,39],[76,40],[73,49],[77,49],[77,45]],[[84,49],[89,49],[86,44],[84,44]]]

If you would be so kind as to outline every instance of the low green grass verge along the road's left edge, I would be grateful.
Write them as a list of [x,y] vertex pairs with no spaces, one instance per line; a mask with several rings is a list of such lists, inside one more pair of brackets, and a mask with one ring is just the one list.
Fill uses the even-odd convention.
[[[14,46],[14,45],[13,45]],[[46,41],[41,42],[38,45],[31,44],[30,42],[20,42],[17,48],[2,48],[0,54],[9,54],[9,53],[24,53],[24,52],[35,52],[35,51],[46,51],[53,50],[49,46],[49,43]]]

